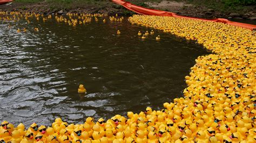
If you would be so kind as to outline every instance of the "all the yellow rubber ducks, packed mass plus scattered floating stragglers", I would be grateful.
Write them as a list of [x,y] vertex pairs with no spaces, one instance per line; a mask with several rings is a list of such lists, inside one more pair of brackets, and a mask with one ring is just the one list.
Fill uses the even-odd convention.
[[[72,20],[74,15],[80,20]],[[68,16],[55,18],[76,25],[91,21],[95,15]],[[3,121],[0,142],[256,142],[255,31],[161,16],[134,15],[129,21],[194,40],[212,51],[196,59],[185,77],[188,87],[183,97],[164,103],[163,110],[147,107],[140,113],[127,112],[127,117],[115,115],[107,120],[88,117],[84,124],[57,118],[49,127],[33,123],[25,128],[22,123],[15,127]],[[138,35],[146,37],[149,32],[139,31]],[[85,90],[82,85],[79,88]]]

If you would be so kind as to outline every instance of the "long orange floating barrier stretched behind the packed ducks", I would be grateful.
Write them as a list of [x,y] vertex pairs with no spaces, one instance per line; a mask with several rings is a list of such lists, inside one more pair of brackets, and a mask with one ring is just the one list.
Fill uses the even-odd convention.
[[171,16],[171,17],[178,17],[178,18],[186,18],[186,19],[194,19],[194,20],[201,20],[201,21],[208,21],[208,22],[220,22],[220,23],[226,23],[233,26],[239,26],[241,28],[247,28],[250,30],[256,30],[256,25],[252,24],[246,24],[246,23],[239,23],[239,22],[232,22],[228,21],[224,18],[217,18],[217,19],[203,19],[203,18],[194,18],[194,17],[187,17],[187,16],[179,16],[176,15],[176,13],[173,12],[167,12],[162,10],[155,10],[155,9],[147,9],[143,8],[142,6],[134,5],[129,2],[125,2],[122,0],[112,0],[113,3],[120,4],[124,6],[126,9],[129,9],[131,11],[134,11],[140,15],[154,15],[154,16]]

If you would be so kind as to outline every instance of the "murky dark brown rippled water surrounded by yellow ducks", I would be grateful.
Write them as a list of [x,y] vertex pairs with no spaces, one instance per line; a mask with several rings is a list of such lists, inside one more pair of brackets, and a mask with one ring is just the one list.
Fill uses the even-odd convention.
[[[161,31],[142,40],[138,31],[150,29],[127,18],[123,23],[100,18],[76,28],[55,20],[0,23],[0,121],[15,124],[50,125],[57,117],[84,122],[147,106],[160,109],[181,96],[194,59],[207,54]],[[18,28],[27,32],[17,33]],[[79,84],[86,94],[77,93]]]

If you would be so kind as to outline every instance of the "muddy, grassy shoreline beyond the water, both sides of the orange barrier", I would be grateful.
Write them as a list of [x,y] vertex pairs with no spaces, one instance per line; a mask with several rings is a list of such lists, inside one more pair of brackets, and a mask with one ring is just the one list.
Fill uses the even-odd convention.
[[[250,10],[246,12],[220,12],[214,9],[208,9],[204,6],[199,5],[181,5],[177,6],[164,5],[159,6],[155,3],[144,3],[142,5],[146,8],[160,9],[165,11],[170,11],[177,13],[182,16],[189,17],[198,17],[198,18],[234,18],[234,19],[250,19],[256,20],[256,10]],[[95,3],[72,3],[72,4],[60,4],[60,3],[24,3],[24,2],[13,2],[11,4],[0,5],[0,11],[20,11],[20,12],[35,12],[35,13],[44,13],[52,14],[57,13],[63,15],[68,12],[77,12],[77,13],[107,13],[108,15],[120,16],[131,16],[134,12],[126,10],[123,6],[114,4],[111,2],[95,2]]]

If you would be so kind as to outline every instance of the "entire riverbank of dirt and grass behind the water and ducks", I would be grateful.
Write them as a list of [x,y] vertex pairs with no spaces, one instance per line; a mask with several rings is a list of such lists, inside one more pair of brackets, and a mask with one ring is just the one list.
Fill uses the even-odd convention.
[[[176,1],[129,1],[131,3],[152,9],[159,9],[177,13],[182,16],[199,18],[235,18],[256,20],[256,7],[230,6],[226,9],[224,4],[186,3]],[[18,0],[11,4],[0,6],[0,11],[25,11],[36,13],[58,13],[60,15],[68,12],[78,13],[107,13],[108,15],[131,16],[134,12],[126,10],[123,6],[110,1],[40,1],[40,0]]]

